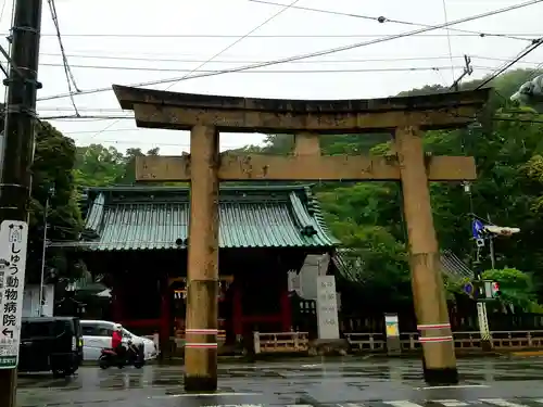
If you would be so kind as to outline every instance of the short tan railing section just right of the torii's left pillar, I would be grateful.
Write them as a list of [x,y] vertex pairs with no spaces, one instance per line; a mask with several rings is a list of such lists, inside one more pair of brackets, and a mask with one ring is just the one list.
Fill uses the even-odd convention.
[[254,353],[298,353],[307,352],[310,339],[307,332],[253,332]]

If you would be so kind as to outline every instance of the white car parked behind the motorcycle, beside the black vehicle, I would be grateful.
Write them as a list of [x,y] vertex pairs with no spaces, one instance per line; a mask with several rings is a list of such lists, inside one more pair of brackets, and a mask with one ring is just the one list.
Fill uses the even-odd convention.
[[[81,320],[83,330],[83,359],[98,360],[104,347],[111,347],[111,338],[115,322],[102,320]],[[134,344],[143,344],[146,360],[154,359],[157,354],[153,341],[135,335],[123,328],[123,342],[131,340]]]

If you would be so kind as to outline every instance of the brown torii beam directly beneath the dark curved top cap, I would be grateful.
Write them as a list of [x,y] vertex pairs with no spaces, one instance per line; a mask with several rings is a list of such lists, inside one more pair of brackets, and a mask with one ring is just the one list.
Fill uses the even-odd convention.
[[195,107],[135,104],[138,127],[190,130],[193,126],[214,126],[220,131],[319,133],[363,133],[387,131],[402,126],[424,130],[464,127],[475,120],[478,107],[451,106],[446,110],[380,112],[275,113],[248,110],[206,110]]

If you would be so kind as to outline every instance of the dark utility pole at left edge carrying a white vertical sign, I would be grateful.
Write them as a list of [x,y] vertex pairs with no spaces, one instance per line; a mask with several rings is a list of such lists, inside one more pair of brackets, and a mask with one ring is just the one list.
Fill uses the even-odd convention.
[[[38,82],[39,40],[41,28],[42,0],[16,0],[15,16],[12,28],[11,66],[5,101],[5,127],[3,147],[0,151],[2,163],[0,183],[0,221],[13,221],[23,231],[18,258],[21,264],[20,284],[15,297],[18,319],[14,326],[11,340],[16,346],[15,366],[0,366],[0,407],[16,405],[16,357],[21,331],[21,311],[23,307],[24,264],[26,260],[28,202],[31,187],[30,165],[34,161],[34,140],[36,124],[36,92],[41,87]],[[2,234],[0,232],[0,234]],[[0,253],[8,251],[8,240],[1,241]],[[12,265],[15,263],[11,260]],[[3,276],[2,276],[3,278]],[[5,291],[7,292],[7,291]],[[4,293],[5,293],[4,292]],[[4,309],[0,309],[0,313]],[[18,314],[18,315],[17,315]],[[2,315],[3,319],[7,314]],[[2,323],[2,321],[0,321]],[[5,330],[5,329],[4,329]],[[0,332],[0,334],[2,334]]]

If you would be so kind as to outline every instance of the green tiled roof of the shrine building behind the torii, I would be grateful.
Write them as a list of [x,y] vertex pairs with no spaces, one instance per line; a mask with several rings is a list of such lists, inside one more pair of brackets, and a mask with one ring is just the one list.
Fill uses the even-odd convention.
[[[87,196],[86,230],[75,245],[92,251],[186,247],[189,188],[92,188]],[[307,186],[222,187],[219,222],[220,247],[339,244]]]

